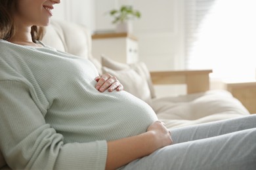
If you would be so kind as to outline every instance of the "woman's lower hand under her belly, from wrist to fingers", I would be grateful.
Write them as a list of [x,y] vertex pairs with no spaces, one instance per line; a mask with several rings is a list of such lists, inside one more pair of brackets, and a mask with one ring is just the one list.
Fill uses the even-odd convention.
[[153,132],[156,136],[157,148],[162,148],[173,143],[173,139],[171,139],[171,131],[169,131],[169,129],[165,127],[165,124],[163,122],[154,122],[148,127],[147,131]]

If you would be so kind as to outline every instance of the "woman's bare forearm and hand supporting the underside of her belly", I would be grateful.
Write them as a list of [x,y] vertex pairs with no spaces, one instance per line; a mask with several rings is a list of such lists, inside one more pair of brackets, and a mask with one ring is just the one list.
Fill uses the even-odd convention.
[[171,143],[173,143],[171,132],[163,122],[156,121],[148,127],[145,133],[108,141],[106,169],[117,169]]

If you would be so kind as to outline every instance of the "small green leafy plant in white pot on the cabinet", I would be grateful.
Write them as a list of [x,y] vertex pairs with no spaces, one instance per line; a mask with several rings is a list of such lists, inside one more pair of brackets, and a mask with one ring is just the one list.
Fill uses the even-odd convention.
[[139,10],[133,9],[131,5],[123,5],[119,10],[110,10],[109,13],[110,16],[114,17],[112,24],[116,24],[117,32],[131,32],[131,20],[141,17]]

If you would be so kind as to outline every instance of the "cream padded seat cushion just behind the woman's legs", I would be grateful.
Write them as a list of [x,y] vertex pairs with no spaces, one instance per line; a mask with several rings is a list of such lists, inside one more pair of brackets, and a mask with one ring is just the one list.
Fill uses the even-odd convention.
[[152,107],[168,128],[248,115],[245,107],[231,93],[210,90],[205,93],[153,99]]

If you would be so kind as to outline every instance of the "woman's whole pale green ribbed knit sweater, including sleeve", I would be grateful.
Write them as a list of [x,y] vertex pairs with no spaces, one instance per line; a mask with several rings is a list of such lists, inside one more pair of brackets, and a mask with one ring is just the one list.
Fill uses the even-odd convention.
[[157,120],[130,93],[98,92],[97,75],[88,59],[0,40],[0,148],[12,169],[104,169],[106,141]]

